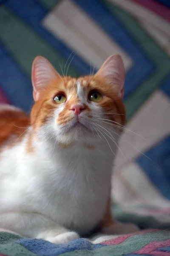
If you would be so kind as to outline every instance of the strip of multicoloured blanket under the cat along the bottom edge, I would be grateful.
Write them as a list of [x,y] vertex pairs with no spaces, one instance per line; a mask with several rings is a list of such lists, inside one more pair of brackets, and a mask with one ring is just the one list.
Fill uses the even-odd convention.
[[170,256],[170,232],[144,230],[102,242],[77,239],[69,244],[52,244],[41,239],[22,239],[0,233],[0,256]]

